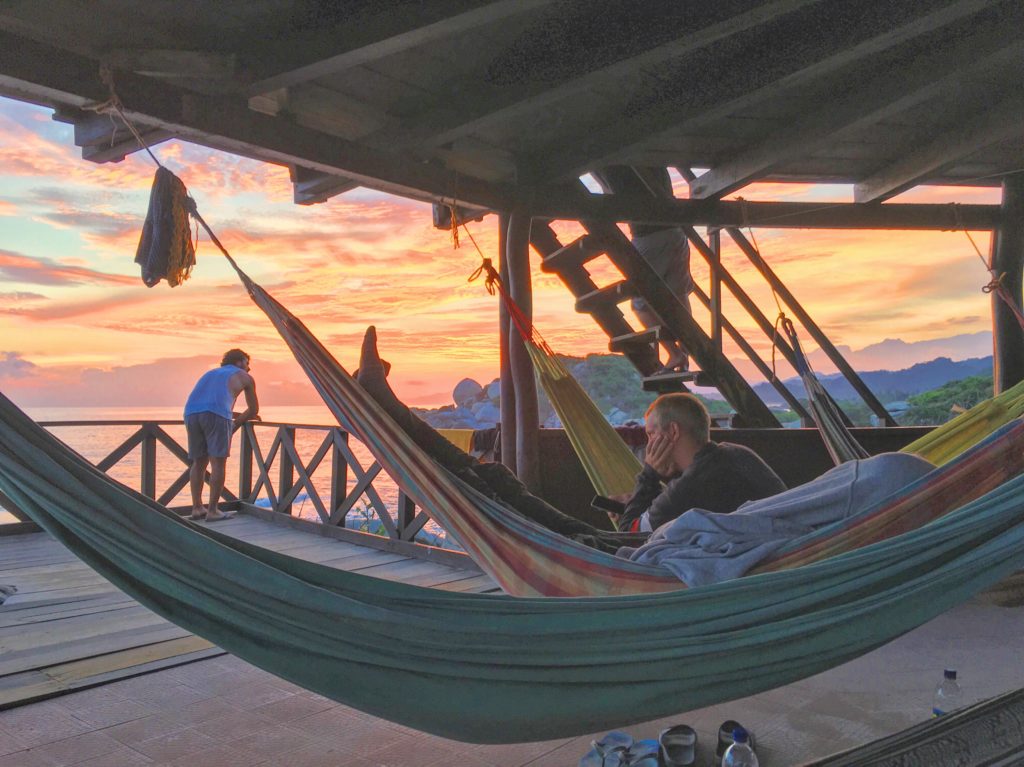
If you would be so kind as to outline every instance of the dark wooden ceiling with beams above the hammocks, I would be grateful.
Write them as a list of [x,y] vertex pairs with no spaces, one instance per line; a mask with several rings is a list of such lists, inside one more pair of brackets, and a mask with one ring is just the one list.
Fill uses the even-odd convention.
[[6,0],[0,93],[117,161],[103,65],[146,140],[289,165],[297,202],[553,213],[628,164],[874,203],[1024,168],[1022,31],[1020,0]]

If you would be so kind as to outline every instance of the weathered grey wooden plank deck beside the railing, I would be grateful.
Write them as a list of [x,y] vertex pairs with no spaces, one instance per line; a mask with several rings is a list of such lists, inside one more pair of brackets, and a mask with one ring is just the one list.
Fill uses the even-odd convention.
[[[249,515],[218,529],[338,569],[462,592],[497,591],[477,569],[313,536]],[[222,654],[120,592],[44,532],[0,537],[0,709]]]

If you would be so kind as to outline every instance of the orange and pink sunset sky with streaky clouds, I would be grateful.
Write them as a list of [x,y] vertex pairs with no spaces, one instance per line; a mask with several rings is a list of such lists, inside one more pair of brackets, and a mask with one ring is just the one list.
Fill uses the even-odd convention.
[[[177,141],[155,152],[243,268],[350,370],[362,330],[374,324],[395,387],[412,403],[443,404],[461,378],[497,376],[496,299],[467,282],[479,255],[465,237],[454,250],[450,235],[431,226],[429,206],[366,189],[296,206],[285,168]],[[288,349],[205,236],[191,280],[174,289],[142,285],[133,258],[154,167],[143,153],[118,164],[84,161],[71,126],[48,110],[0,98],[0,390],[23,404],[176,404],[220,353],[241,346],[268,406],[311,401]],[[685,195],[681,181],[678,194]],[[844,186],[761,184],[740,194],[852,199]],[[998,191],[932,187],[899,201],[991,203]],[[571,237],[572,225],[559,228]],[[497,219],[471,230],[497,258]],[[853,350],[858,369],[991,353],[981,292],[987,274],[963,232],[756,235],[825,333]],[[987,254],[988,235],[976,240]],[[742,256],[727,250],[724,260],[774,317],[770,293]],[[706,285],[702,265],[694,253],[694,278]],[[616,276],[599,264],[594,273],[601,284]],[[606,350],[601,331],[573,312],[571,295],[536,261],[534,287],[536,324],[555,349]],[[741,310],[727,303],[726,311],[751,328]],[[705,312],[696,316],[706,323]],[[770,358],[769,342],[749,336]],[[914,345],[872,349],[886,339]]]

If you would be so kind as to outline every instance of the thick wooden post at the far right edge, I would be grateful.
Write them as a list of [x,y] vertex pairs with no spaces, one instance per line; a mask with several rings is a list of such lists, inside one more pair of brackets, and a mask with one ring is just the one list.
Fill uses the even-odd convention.
[[[991,264],[1021,308],[1024,284],[1024,176],[1002,181],[1001,222],[992,237]],[[1024,330],[1013,310],[992,293],[992,385],[995,393],[1024,380]]]

